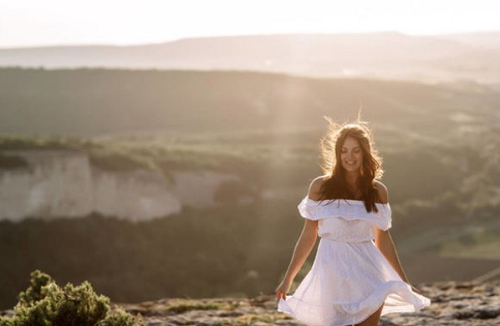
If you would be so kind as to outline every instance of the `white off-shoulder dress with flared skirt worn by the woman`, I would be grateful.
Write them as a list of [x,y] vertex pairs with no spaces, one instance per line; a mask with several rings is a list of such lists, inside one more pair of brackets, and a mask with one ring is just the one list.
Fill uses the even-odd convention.
[[368,213],[359,200],[314,201],[306,196],[300,215],[318,220],[321,237],[314,263],[277,310],[311,326],[358,324],[383,304],[381,316],[417,312],[431,300],[414,292],[375,245],[374,227],[392,226],[390,204]]

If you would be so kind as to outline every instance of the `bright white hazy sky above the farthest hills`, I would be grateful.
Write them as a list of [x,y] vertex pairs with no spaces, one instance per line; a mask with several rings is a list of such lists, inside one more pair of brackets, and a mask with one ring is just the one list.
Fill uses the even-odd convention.
[[500,30],[498,0],[0,0],[0,47],[274,33]]

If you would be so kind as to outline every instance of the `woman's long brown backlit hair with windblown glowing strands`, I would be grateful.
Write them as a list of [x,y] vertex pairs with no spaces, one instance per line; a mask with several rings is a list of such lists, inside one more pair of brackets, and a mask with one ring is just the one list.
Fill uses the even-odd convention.
[[324,116],[324,118],[329,122],[329,128],[326,136],[320,141],[321,157],[323,159],[321,169],[326,175],[321,185],[321,200],[357,199],[347,186],[345,171],[340,159],[345,139],[352,137],[359,142],[363,152],[363,162],[358,178],[361,200],[364,201],[367,212],[378,212],[375,202],[379,198],[373,181],[380,179],[384,171],[382,169],[382,158],[375,148],[373,134],[368,128],[368,123],[362,121],[359,115],[356,122],[345,122],[342,125],[335,123],[327,116]]

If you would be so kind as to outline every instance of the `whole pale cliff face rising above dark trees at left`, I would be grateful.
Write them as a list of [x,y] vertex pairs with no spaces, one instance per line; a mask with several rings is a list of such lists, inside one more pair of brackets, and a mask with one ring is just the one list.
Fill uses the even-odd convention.
[[225,180],[210,171],[173,171],[174,184],[159,171],[107,171],[86,154],[59,150],[2,151],[23,157],[29,169],[0,169],[0,220],[78,218],[92,212],[130,221],[179,213],[182,206],[214,205]]

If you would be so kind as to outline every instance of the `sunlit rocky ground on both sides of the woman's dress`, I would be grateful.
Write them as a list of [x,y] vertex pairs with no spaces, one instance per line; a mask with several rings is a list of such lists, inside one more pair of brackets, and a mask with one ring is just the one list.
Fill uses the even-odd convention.
[[[416,313],[382,316],[380,326],[500,325],[500,280],[485,283],[438,282],[416,286],[431,299],[431,306]],[[146,324],[158,326],[299,326],[291,316],[276,310],[274,295],[253,298],[166,298],[136,304],[120,303]]]

